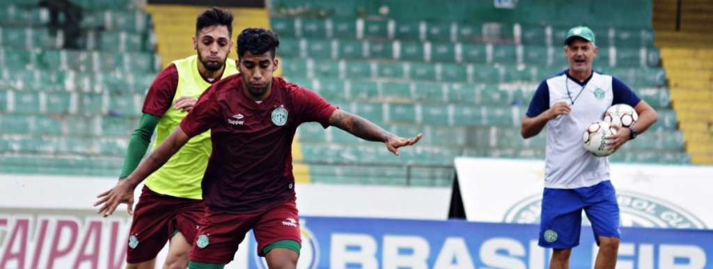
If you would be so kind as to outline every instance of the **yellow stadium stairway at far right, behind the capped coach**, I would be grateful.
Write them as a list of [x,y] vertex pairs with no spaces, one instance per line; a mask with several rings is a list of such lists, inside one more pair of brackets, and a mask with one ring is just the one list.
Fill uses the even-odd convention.
[[653,4],[655,44],[661,49],[685,149],[693,164],[713,164],[713,2],[682,1],[679,31],[677,1]]

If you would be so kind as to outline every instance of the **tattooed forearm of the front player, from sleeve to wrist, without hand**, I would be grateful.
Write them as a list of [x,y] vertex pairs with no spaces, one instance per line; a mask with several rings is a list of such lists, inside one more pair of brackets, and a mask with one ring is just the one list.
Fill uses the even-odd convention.
[[356,137],[369,141],[386,142],[392,136],[390,132],[386,132],[384,128],[374,122],[343,110],[334,110],[332,116],[329,117],[329,125],[339,127]]

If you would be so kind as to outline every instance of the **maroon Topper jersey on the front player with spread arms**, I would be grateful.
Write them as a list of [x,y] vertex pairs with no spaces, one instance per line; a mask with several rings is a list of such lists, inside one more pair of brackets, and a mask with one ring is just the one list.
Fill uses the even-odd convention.
[[180,124],[189,137],[211,130],[202,190],[213,210],[252,213],[295,199],[294,133],[302,122],[328,127],[337,107],[282,78],[271,91],[260,103],[250,100],[240,74],[232,75],[208,88]]

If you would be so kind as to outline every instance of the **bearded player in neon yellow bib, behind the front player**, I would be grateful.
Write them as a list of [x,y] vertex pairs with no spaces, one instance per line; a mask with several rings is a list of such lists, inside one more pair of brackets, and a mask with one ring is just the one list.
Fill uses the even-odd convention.
[[[227,60],[232,47],[230,11],[207,9],[198,16],[195,28],[193,47],[198,55],[175,60],[153,81],[139,127],[131,135],[120,179],[136,169],[154,130],[153,149],[178,127],[212,83],[237,73],[235,60]],[[156,255],[169,240],[163,268],[188,267],[188,253],[205,209],[200,182],[211,152],[210,132],[203,132],[148,176],[133,214],[127,268],[154,268]],[[130,201],[129,213],[133,213],[132,206]]]

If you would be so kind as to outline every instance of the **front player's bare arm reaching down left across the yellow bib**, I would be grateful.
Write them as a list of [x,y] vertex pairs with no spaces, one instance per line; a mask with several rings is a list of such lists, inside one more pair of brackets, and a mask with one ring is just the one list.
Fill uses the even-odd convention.
[[151,152],[151,154],[139,164],[133,173],[125,179],[120,180],[112,189],[104,191],[97,196],[99,200],[94,203],[94,206],[101,206],[98,213],[106,217],[111,215],[119,204],[126,204],[129,214],[132,214],[133,190],[143,179],[168,162],[168,159],[178,152],[178,149],[183,147],[183,145],[188,142],[188,139],[190,139],[190,137],[188,137],[181,128],[176,128],[155,151]]

